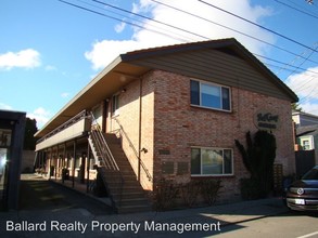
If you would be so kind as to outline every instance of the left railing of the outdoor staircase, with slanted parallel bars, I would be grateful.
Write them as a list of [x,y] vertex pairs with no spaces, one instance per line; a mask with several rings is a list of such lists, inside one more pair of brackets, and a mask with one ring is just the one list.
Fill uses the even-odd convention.
[[92,132],[91,134],[92,136],[94,136],[93,131],[96,132],[96,136],[98,138],[96,140],[96,142],[98,143],[97,146],[99,147],[100,151],[103,153],[102,161],[104,162],[104,166],[110,170],[119,171],[119,167],[109,147],[109,144],[106,143],[106,140],[102,133],[100,124],[98,123],[94,115],[92,113],[90,113],[90,115],[92,118],[92,122],[94,123],[94,127],[92,127],[91,129],[91,132]]

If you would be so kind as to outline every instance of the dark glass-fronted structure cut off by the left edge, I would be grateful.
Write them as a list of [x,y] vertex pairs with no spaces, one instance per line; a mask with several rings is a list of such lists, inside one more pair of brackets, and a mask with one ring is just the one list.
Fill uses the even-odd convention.
[[0,110],[0,210],[18,209],[25,113]]

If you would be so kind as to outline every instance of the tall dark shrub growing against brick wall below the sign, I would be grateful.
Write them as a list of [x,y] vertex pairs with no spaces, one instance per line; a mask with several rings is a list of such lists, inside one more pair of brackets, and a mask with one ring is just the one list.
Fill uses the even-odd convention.
[[246,148],[236,140],[243,163],[250,172],[250,182],[256,186],[256,198],[266,197],[271,189],[272,167],[276,158],[276,138],[267,131],[257,131],[252,141],[251,133],[246,133]]

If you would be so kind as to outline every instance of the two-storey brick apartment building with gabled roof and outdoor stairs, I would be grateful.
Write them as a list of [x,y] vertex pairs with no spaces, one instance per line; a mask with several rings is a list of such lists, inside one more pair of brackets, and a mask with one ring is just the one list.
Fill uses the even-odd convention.
[[233,201],[249,176],[234,140],[244,144],[247,131],[271,130],[276,163],[294,173],[296,101],[236,39],[133,51],[119,55],[37,132],[36,164],[56,177],[68,168],[73,183],[93,178],[93,163],[103,166],[107,173],[98,170],[117,207],[125,202],[116,203],[115,182],[124,184],[122,200],[132,204],[126,193],[132,197],[137,185],[128,170],[148,191],[156,191],[162,178],[221,180],[218,200]]

